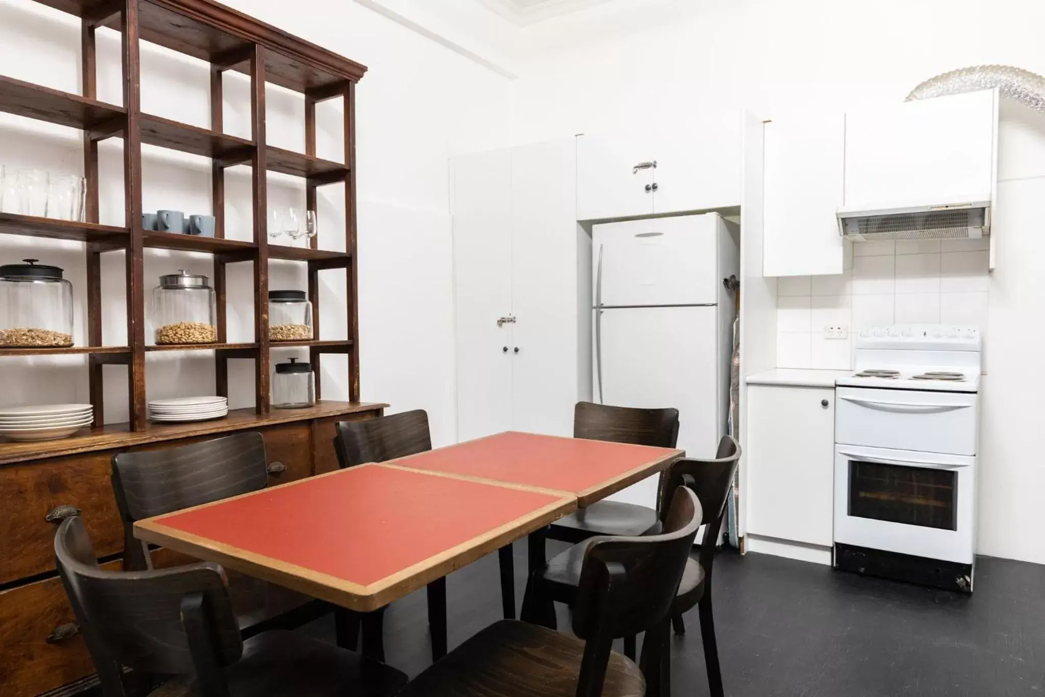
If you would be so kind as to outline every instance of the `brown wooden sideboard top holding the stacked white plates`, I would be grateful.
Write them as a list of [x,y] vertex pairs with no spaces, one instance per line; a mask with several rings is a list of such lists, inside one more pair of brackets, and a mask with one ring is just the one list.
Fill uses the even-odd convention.
[[28,460],[57,458],[92,450],[110,450],[144,443],[194,438],[231,431],[260,428],[277,423],[291,423],[357,412],[372,412],[388,404],[321,400],[306,409],[276,409],[269,414],[258,414],[253,409],[234,409],[224,419],[188,423],[145,424],[142,431],[131,431],[131,424],[112,423],[83,429],[78,435],[43,443],[0,442],[0,465]]

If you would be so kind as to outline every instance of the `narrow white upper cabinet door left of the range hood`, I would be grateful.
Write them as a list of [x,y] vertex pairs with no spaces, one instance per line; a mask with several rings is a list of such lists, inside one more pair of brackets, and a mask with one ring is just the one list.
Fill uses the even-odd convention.
[[804,114],[765,127],[763,273],[814,276],[842,273],[845,119]]

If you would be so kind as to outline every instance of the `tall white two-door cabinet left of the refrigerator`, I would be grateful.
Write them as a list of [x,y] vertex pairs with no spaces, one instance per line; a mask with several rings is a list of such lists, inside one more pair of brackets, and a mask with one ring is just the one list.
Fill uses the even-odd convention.
[[573,434],[589,399],[590,238],[576,141],[452,163],[458,439]]

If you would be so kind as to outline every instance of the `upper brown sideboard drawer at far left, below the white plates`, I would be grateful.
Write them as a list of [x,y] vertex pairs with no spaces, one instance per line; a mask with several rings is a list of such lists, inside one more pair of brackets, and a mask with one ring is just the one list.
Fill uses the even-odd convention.
[[54,568],[56,515],[69,510],[62,507],[79,510],[99,557],[123,551],[110,457],[91,452],[0,467],[0,583]]

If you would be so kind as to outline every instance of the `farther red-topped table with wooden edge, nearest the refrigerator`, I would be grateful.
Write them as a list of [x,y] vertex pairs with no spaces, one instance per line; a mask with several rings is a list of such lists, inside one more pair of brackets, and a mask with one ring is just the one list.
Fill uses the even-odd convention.
[[504,433],[385,464],[571,493],[585,508],[686,455],[684,450]]

